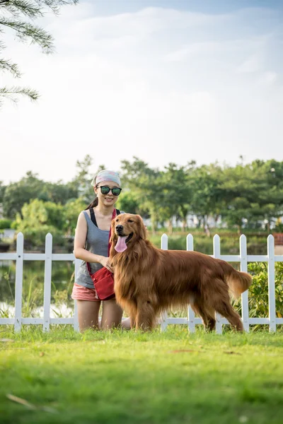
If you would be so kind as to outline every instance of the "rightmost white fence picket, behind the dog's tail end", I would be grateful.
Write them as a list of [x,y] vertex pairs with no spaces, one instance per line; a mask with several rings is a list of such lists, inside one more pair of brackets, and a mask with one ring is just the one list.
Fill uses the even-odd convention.
[[276,308],[275,308],[275,240],[273,235],[267,237],[268,257],[268,311],[270,319],[270,331],[276,331]]

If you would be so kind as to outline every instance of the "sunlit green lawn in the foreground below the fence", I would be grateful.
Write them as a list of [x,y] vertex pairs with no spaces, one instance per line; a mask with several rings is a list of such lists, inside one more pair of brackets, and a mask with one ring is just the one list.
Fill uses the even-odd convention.
[[282,423],[282,332],[7,328],[0,330],[12,340],[0,342],[2,424]]

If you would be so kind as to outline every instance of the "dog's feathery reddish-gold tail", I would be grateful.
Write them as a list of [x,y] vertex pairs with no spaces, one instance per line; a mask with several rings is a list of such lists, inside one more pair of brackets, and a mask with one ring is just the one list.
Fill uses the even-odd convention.
[[230,264],[221,261],[221,268],[224,271],[226,282],[234,298],[238,298],[244,291],[248,290],[252,283],[252,276],[247,272],[236,271]]

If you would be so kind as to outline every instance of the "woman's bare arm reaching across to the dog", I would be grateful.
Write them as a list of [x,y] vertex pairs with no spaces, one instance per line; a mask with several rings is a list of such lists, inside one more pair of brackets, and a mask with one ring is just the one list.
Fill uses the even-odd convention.
[[105,266],[112,272],[110,264],[108,264],[108,257],[103,257],[100,254],[88,252],[86,246],[86,234],[88,232],[88,225],[83,212],[79,214],[78,222],[76,224],[75,240],[74,240],[74,255],[77,259],[82,259],[86,262],[96,262]]

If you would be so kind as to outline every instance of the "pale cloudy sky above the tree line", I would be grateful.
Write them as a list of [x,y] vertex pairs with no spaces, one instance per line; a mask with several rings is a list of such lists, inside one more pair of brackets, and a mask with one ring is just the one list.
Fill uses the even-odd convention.
[[37,21],[52,55],[6,34],[23,76],[0,86],[41,97],[0,110],[0,181],[68,182],[86,155],[93,174],[283,160],[282,19],[281,0],[92,0]]

